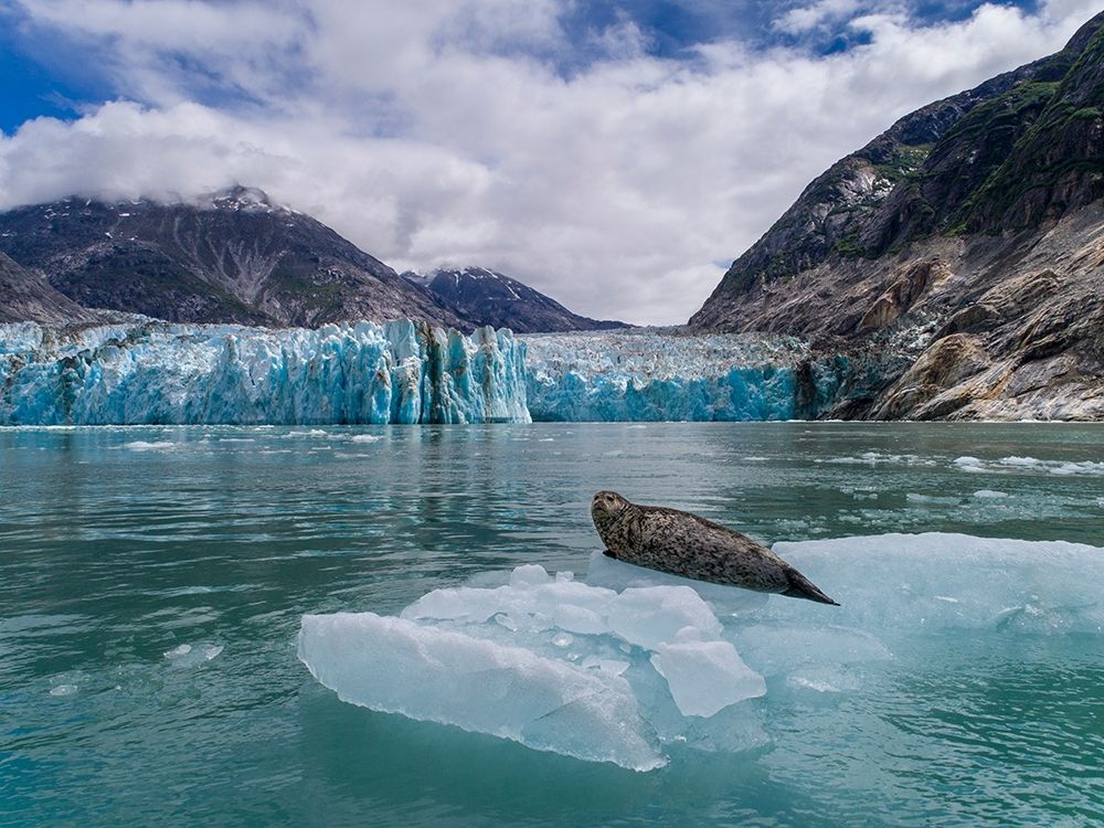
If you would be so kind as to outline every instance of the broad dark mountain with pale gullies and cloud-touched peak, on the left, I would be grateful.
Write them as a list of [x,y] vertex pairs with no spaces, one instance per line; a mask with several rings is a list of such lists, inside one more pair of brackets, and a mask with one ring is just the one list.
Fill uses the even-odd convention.
[[81,306],[170,321],[465,321],[325,224],[243,187],[191,204],[19,208],[0,214],[0,252]]

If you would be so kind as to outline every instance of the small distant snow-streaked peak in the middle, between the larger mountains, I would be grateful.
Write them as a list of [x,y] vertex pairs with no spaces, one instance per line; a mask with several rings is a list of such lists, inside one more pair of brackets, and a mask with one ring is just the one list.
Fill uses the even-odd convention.
[[484,267],[438,268],[425,276],[413,273],[403,275],[428,289],[457,316],[478,326],[510,328],[516,333],[631,327],[626,322],[588,319],[573,314],[528,285]]

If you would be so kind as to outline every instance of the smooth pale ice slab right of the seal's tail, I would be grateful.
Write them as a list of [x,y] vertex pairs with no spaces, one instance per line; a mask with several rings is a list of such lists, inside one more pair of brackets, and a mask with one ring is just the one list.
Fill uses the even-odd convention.
[[[1104,633],[1104,550],[1095,546],[933,532],[777,543],[774,551],[834,591],[842,604],[835,624],[882,640],[945,629]],[[761,620],[804,623],[803,603],[772,601]]]

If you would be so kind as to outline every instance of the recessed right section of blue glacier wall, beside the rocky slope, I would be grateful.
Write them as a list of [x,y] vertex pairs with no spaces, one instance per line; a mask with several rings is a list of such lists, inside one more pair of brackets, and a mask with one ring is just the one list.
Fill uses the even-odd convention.
[[843,368],[792,337],[626,329],[521,339],[538,421],[811,418]]

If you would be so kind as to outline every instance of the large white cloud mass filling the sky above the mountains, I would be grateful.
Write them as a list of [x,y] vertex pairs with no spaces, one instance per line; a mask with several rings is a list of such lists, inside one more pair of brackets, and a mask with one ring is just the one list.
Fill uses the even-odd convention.
[[[720,40],[686,60],[649,55],[623,18],[591,33],[569,75],[560,59],[582,45],[552,0],[150,4],[23,3],[121,97],[0,136],[0,208],[242,182],[399,269],[480,264],[578,312],[656,323],[697,310],[715,263],[837,158],[1057,50],[1096,11],[986,4],[926,25],[863,13],[846,24],[869,43],[842,53]],[[848,6],[781,20],[816,25]]]

